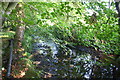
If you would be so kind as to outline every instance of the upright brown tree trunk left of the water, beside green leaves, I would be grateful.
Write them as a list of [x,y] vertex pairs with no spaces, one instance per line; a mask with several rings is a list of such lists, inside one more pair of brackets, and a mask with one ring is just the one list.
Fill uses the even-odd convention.
[[[24,23],[23,23],[23,18],[24,18],[24,10],[22,9],[22,4],[17,5],[18,9],[18,26],[16,28],[16,35],[15,35],[15,41],[14,41],[14,53],[21,53],[22,49],[22,41],[24,38]],[[21,12],[21,13],[20,13]],[[19,55],[16,55],[18,57]]]

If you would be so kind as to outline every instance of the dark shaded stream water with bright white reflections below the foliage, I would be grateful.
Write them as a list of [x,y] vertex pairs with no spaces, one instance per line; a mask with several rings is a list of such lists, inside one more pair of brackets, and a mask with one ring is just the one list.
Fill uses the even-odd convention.
[[[33,44],[36,69],[42,70],[43,78],[114,78],[119,66],[103,65],[88,52],[61,46],[52,40],[39,40]],[[117,69],[117,70],[114,70]]]

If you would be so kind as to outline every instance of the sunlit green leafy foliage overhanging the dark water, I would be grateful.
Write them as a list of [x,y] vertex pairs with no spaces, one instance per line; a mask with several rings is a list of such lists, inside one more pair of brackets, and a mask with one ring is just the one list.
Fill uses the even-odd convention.
[[[97,45],[107,53],[118,54],[119,33],[115,7],[106,2],[96,3],[26,3],[24,22],[28,49],[31,35],[44,36],[86,46]],[[90,13],[91,11],[91,13]],[[89,24],[92,12],[97,13],[96,23]],[[91,42],[93,40],[94,42]]]

